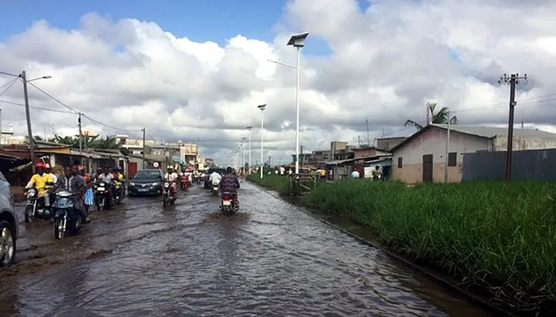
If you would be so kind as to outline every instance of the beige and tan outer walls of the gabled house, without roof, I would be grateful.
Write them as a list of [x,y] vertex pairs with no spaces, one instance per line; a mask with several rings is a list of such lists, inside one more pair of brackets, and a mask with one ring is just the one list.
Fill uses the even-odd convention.
[[[463,154],[476,151],[488,151],[491,146],[488,138],[470,136],[455,131],[450,132],[449,152],[457,153],[456,166],[448,167],[448,181],[461,181]],[[403,147],[396,150],[392,159],[392,179],[407,184],[423,181],[423,155],[433,155],[433,181],[444,181],[444,163],[446,153],[446,130],[430,128],[416,136]],[[398,168],[398,158],[403,166]]]

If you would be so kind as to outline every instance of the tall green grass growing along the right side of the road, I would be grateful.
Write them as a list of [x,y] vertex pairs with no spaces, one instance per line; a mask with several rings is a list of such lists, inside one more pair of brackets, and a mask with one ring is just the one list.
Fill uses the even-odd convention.
[[[265,179],[254,181],[274,189],[288,185],[285,177]],[[361,180],[320,184],[302,197],[307,206],[349,217],[398,253],[461,276],[489,290],[499,305],[522,311],[551,310],[556,302],[555,199],[556,184],[547,182],[407,187]]]

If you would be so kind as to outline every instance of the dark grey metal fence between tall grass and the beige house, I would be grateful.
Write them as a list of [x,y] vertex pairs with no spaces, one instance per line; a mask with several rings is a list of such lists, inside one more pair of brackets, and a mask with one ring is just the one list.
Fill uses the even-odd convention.
[[[465,153],[462,181],[505,180],[506,152]],[[556,148],[513,151],[512,180],[556,180]]]

